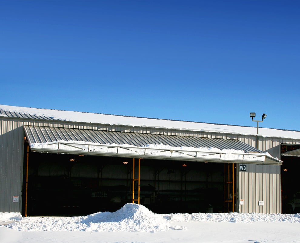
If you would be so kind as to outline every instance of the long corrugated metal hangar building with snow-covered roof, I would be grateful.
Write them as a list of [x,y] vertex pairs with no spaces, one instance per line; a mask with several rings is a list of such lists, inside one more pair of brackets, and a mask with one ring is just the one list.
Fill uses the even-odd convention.
[[[0,212],[281,213],[300,131],[0,105]],[[297,167],[298,166],[298,167]]]

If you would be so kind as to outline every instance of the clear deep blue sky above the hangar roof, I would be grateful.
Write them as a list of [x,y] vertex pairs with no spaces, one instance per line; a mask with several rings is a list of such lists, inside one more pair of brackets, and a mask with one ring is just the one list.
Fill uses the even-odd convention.
[[300,130],[300,1],[0,1],[0,104]]

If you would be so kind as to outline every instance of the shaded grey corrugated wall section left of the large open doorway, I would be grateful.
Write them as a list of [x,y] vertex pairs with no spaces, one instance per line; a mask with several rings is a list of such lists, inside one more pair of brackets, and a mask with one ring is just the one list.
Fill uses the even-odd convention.
[[0,212],[21,212],[24,131],[10,120],[0,119],[0,127]]

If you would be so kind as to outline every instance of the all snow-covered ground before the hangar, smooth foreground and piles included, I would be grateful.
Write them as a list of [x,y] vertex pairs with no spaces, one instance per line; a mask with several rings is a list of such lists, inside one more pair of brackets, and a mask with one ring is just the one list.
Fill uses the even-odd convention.
[[154,214],[126,204],[82,217],[0,213],[0,242],[300,242],[300,214]]

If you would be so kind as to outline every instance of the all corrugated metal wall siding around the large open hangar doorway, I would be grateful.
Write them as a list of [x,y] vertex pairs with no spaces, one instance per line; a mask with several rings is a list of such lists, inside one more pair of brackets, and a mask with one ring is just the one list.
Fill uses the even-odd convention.
[[[3,112],[2,112],[3,113]],[[22,125],[30,126],[50,126],[65,127],[86,130],[106,130],[148,134],[171,134],[177,136],[191,137],[207,137],[222,139],[237,139],[250,146],[256,146],[256,136],[243,136],[238,134],[208,133],[185,130],[168,130],[155,129],[146,127],[130,127],[130,126],[109,126],[105,124],[91,123],[75,123],[54,120],[36,120],[27,118],[10,118],[0,117],[0,212],[20,212],[21,198],[19,204],[12,202],[13,195],[20,195],[22,190],[22,162],[23,162],[23,128]],[[280,158],[280,144],[300,144],[300,140],[282,139],[282,138],[262,138],[260,139],[260,150],[270,153],[273,157]],[[240,212],[259,212],[266,210],[270,213],[278,213],[281,210],[281,188],[280,188],[280,166],[257,167],[258,171],[265,171],[265,175],[259,178],[256,169],[249,170],[255,166],[267,165],[248,165],[248,171],[238,172],[239,182],[239,199],[245,200],[244,208],[240,208]],[[263,169],[261,169],[263,168]],[[256,192],[256,188],[260,188],[261,192]],[[262,192],[264,190],[264,192]],[[256,195],[258,193],[258,195]],[[255,200],[251,201],[252,196]],[[259,208],[258,197],[262,196],[268,206]],[[267,200],[273,199],[274,200]],[[241,206],[240,206],[241,207]],[[262,207],[262,206],[260,206]]]

